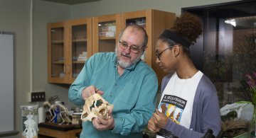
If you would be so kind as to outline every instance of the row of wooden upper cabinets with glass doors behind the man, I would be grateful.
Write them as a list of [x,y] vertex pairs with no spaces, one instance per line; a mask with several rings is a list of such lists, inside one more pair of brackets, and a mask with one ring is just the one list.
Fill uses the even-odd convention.
[[96,52],[114,52],[121,29],[136,23],[149,35],[142,60],[156,71],[160,82],[166,74],[155,63],[154,45],[175,18],[175,13],[148,9],[48,23],[48,81],[72,84],[87,58]]

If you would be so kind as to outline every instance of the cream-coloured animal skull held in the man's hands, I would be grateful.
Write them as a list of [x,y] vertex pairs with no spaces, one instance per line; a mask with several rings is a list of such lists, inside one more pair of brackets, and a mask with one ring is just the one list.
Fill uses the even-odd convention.
[[114,105],[110,105],[100,94],[95,93],[85,100],[81,115],[82,121],[92,121],[94,117],[107,118],[108,110],[112,110]]

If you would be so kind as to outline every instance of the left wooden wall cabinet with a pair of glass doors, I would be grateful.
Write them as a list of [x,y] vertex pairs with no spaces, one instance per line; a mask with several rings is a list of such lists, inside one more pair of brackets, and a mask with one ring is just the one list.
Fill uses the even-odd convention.
[[71,84],[92,55],[91,18],[48,23],[48,82]]

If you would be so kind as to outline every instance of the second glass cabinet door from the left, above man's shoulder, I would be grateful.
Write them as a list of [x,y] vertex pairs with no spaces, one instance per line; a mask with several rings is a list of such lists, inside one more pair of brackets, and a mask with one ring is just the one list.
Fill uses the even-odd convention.
[[[70,59],[68,65],[69,83],[71,84],[78,76],[88,57],[91,56],[91,19],[83,18],[70,21]],[[70,52],[69,51],[69,52]],[[68,51],[67,51],[68,52]]]

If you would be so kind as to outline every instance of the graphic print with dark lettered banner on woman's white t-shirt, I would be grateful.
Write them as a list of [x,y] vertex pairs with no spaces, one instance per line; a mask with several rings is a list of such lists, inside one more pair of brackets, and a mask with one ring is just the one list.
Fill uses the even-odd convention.
[[[171,120],[179,124],[181,122],[181,116],[184,108],[186,107],[187,100],[172,95],[164,95],[161,103],[159,103],[158,110],[164,113]],[[175,137],[171,132],[161,129],[157,132],[161,137],[172,138]]]

